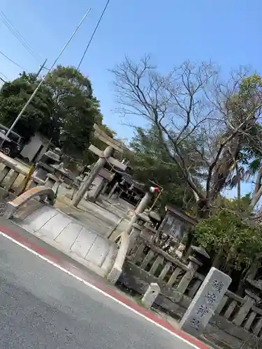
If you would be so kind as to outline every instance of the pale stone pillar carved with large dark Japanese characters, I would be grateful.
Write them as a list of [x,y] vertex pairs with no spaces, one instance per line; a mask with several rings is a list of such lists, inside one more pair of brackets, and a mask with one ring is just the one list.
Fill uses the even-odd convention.
[[201,336],[231,281],[230,276],[212,267],[180,321],[180,328],[192,336]]

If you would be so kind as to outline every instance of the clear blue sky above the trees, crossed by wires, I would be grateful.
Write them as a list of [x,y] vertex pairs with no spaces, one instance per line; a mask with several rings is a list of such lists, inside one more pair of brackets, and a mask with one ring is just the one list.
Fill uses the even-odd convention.
[[[105,2],[1,0],[0,10],[34,51],[52,64],[81,17],[92,8],[59,61],[65,66],[77,66]],[[112,75],[108,72],[108,68],[122,61],[124,54],[139,59],[150,53],[163,71],[187,59],[211,59],[221,66],[225,75],[240,65],[251,65],[260,73],[261,12],[259,0],[111,0],[81,69],[89,75],[94,94],[101,101],[105,123],[120,138],[131,137],[131,130],[112,112],[115,98],[110,86]],[[41,63],[24,49],[1,20],[0,50],[27,71],[36,72]],[[13,79],[20,71],[0,54],[1,73]]]

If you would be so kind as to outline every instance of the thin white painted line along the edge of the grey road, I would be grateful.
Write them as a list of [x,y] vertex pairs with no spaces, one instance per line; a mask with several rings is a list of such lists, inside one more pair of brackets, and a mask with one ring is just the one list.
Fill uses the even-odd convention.
[[112,297],[111,295],[108,295],[108,293],[106,293],[103,290],[101,290],[100,288],[97,288],[96,286],[92,285],[92,283],[89,283],[89,282],[85,281],[84,279],[80,278],[79,276],[69,272],[68,270],[66,270],[63,267],[61,267],[60,265],[58,265],[57,263],[52,262],[52,260],[49,260],[48,258],[45,258],[40,253],[37,253],[36,251],[32,250],[31,248],[21,244],[21,242],[17,242],[17,240],[13,239],[13,237],[10,237],[9,235],[6,235],[4,232],[1,232],[1,231],[0,231],[0,235],[3,236],[3,237],[6,237],[6,239],[8,239],[11,242],[17,244],[18,246],[24,248],[25,250],[33,253],[38,258],[41,258],[42,260],[45,260],[45,262],[48,262],[50,265],[53,265],[57,269],[61,270],[61,272],[64,272],[64,273],[72,276],[73,278],[75,278],[76,280],[78,280],[78,281],[80,281],[82,283],[85,283],[85,285],[88,286],[89,288],[92,288],[93,290],[96,290],[97,292],[101,293],[105,297],[108,297],[108,298],[112,299],[113,301],[117,302],[118,304],[124,306],[124,308],[129,309],[130,311],[132,311],[136,315],[141,316],[142,318],[144,318],[148,322],[151,322],[152,324],[156,325],[157,327],[159,327],[159,328],[163,329],[164,331],[168,332],[169,334],[175,336],[177,339],[180,339],[180,341],[183,341],[184,343],[187,343],[189,346],[191,346],[191,348],[199,349],[198,346],[195,346],[194,344],[190,343],[186,339],[180,337],[178,334],[175,334],[174,332],[171,332],[169,329],[167,329],[166,327],[163,327],[162,325],[160,325],[159,323],[155,322],[154,320],[152,320],[150,318],[147,318],[147,316],[139,313],[139,311],[136,311],[135,309],[131,308],[131,306],[128,306],[128,305],[124,304],[123,302],[119,301],[117,298]]

